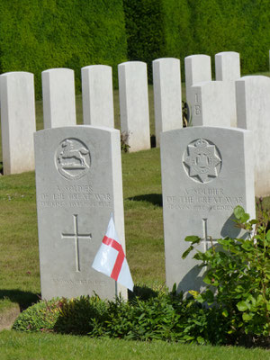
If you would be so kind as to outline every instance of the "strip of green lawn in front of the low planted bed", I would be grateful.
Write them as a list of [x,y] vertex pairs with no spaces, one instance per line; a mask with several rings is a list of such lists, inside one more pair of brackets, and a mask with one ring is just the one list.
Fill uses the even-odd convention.
[[0,332],[1,360],[269,360],[263,349]]

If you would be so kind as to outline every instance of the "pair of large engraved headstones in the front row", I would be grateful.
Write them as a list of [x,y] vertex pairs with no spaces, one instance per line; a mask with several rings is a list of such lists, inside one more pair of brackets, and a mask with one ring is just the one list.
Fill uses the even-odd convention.
[[[211,247],[239,237],[233,209],[255,215],[252,132],[189,127],[161,134],[166,284],[198,290],[202,272],[181,258],[188,235]],[[113,213],[125,248],[120,131],[89,125],[37,131],[35,139],[41,293],[45,299],[126,290],[91,267]],[[211,237],[211,238],[210,238]],[[112,268],[117,260],[103,258]],[[129,259],[128,259],[129,260]]]

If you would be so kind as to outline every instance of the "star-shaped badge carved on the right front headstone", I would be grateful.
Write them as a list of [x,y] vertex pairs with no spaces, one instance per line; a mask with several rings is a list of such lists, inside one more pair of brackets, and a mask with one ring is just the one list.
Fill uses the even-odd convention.
[[210,183],[220,174],[220,151],[211,141],[196,139],[184,151],[183,165],[191,179],[201,184]]

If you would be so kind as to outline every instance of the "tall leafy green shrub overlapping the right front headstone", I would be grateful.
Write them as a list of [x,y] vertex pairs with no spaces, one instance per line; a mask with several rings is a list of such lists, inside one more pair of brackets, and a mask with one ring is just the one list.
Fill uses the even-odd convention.
[[[197,302],[206,302],[222,310],[227,320],[231,341],[247,338],[269,340],[270,335],[270,230],[269,214],[261,211],[258,220],[240,206],[234,210],[236,226],[245,229],[247,238],[219,238],[206,252],[196,250],[193,256],[206,268],[202,293],[190,292]],[[201,242],[201,238],[185,238],[191,246],[183,258]],[[265,338],[265,339],[262,339]]]

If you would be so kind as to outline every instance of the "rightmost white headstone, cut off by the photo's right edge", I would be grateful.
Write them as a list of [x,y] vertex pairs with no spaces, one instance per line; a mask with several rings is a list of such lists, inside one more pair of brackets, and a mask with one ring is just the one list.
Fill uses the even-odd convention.
[[252,130],[255,193],[270,195],[270,78],[244,76],[236,82],[238,128]]

